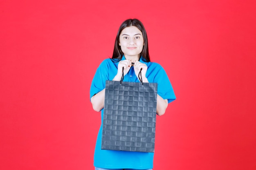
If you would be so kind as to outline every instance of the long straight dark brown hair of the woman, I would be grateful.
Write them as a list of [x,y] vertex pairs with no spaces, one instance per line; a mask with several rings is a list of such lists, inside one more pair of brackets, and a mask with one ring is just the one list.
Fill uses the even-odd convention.
[[122,52],[121,47],[119,46],[119,38],[120,38],[120,34],[123,31],[123,29],[125,29],[126,27],[129,27],[129,26],[136,26],[139,29],[139,31],[142,32],[142,36],[144,39],[144,46],[140,53],[140,57],[144,62],[150,62],[149,53],[148,53],[148,36],[146,33],[146,29],[144,28],[143,24],[138,19],[125,20],[119,27],[119,30],[117,32],[117,37],[115,40],[115,46],[114,46],[112,59],[117,59],[115,61],[120,61],[122,59],[122,56],[124,55],[124,53]]

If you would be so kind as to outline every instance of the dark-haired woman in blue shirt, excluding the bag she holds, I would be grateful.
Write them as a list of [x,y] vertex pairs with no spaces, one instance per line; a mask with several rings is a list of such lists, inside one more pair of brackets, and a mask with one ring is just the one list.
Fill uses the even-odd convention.
[[[128,19],[118,30],[112,59],[103,60],[92,80],[90,100],[93,109],[101,111],[101,122],[106,80],[120,81],[123,67],[125,82],[139,82],[141,70],[143,82],[158,83],[157,115],[163,115],[168,103],[176,99],[173,88],[164,68],[150,62],[148,38],[143,24],[137,19]],[[95,170],[152,170],[154,153],[101,150],[101,135],[102,124],[94,152]]]

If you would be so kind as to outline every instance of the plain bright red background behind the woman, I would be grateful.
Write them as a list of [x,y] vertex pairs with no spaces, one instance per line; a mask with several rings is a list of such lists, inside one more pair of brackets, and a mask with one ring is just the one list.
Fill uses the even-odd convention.
[[154,170],[256,169],[254,0],[2,0],[0,169],[92,170],[90,83],[138,18],[177,100],[157,117]]

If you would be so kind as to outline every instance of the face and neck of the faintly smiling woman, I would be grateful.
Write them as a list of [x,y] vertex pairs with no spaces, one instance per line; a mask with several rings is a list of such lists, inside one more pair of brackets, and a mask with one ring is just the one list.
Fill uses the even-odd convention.
[[126,27],[120,34],[119,46],[126,59],[139,60],[144,46],[142,32],[136,26]]

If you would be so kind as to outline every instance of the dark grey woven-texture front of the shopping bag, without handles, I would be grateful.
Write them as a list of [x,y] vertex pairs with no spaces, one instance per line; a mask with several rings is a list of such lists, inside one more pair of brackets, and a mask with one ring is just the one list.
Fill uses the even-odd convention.
[[157,83],[106,81],[101,148],[154,152]]

